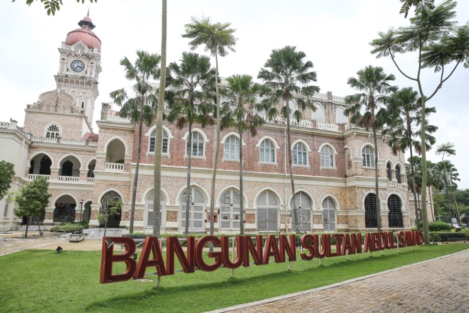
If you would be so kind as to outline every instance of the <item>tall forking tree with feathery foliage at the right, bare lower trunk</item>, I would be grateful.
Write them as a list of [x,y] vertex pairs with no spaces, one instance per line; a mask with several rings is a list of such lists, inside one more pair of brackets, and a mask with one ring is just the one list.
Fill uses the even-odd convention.
[[[422,125],[421,140],[426,142],[426,102],[428,102],[442,88],[443,84],[453,74],[460,64],[469,67],[469,24],[456,26],[454,8],[456,2],[446,0],[438,6],[421,6],[416,11],[415,17],[409,19],[410,25],[400,27],[398,30],[390,28],[387,32],[380,32],[379,38],[371,42],[374,49],[372,53],[377,53],[377,58],[383,56],[391,57],[396,68],[401,74],[414,81],[422,98]],[[405,13],[405,11],[404,11]],[[398,65],[396,53],[416,53],[417,73],[412,75],[404,73]],[[445,68],[454,64],[449,73],[445,74]],[[431,94],[424,93],[423,70],[433,68],[439,72],[439,83]],[[425,75],[425,77],[428,77]],[[424,242],[430,243],[428,234],[428,217],[426,212],[426,145],[422,144],[423,177],[422,177],[422,219],[424,230]]]

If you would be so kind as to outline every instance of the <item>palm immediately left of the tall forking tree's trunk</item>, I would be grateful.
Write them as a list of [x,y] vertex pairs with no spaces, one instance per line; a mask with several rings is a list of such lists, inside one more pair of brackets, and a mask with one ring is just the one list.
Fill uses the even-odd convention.
[[[430,113],[434,113],[436,110],[434,107],[427,108],[425,114],[428,116]],[[414,176],[414,158],[413,151],[415,150],[420,154],[420,125],[422,121],[422,106],[419,97],[419,93],[414,91],[412,87],[406,87],[395,93],[389,103],[387,127],[384,128],[383,134],[389,134],[390,140],[388,145],[391,147],[391,151],[394,155],[398,152],[405,153],[407,149],[410,151],[410,169],[412,176]],[[431,135],[438,127],[426,124],[426,142],[427,149],[431,148],[432,144],[435,144],[436,139]],[[418,199],[416,194],[415,180],[412,179],[412,193],[414,195],[414,206],[415,206],[415,225],[417,229],[420,229],[420,221],[418,214]]]

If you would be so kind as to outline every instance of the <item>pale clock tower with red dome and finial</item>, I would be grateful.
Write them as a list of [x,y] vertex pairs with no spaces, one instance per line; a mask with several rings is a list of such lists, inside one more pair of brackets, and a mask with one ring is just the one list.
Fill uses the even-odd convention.
[[94,101],[99,95],[98,77],[101,72],[101,40],[92,31],[89,12],[70,31],[59,48],[60,65],[55,82],[58,91],[74,99],[75,108],[85,115],[89,125],[93,120]]

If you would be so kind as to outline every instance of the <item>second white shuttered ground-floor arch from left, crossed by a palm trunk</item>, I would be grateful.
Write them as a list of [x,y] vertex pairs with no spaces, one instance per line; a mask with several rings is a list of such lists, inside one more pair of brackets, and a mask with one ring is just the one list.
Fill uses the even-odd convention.
[[[186,225],[186,192],[179,198],[181,206],[181,228]],[[189,230],[203,229],[203,208],[205,207],[205,197],[199,189],[191,188],[189,192]]]

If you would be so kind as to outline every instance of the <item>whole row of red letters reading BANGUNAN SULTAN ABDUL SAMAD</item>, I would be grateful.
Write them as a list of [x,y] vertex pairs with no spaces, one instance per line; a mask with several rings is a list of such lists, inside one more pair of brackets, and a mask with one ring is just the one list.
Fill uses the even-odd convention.
[[[313,258],[337,257],[348,254],[362,253],[361,234],[323,234],[303,235],[300,239],[303,252],[301,259],[305,261]],[[363,252],[379,251],[397,248],[392,232],[366,233],[364,235]],[[335,239],[335,252],[332,252],[332,238]],[[221,266],[235,269],[240,266],[247,267],[251,264],[265,265],[273,257],[275,263],[283,263],[288,257],[289,261],[296,261],[295,235],[280,235],[278,240],[273,235],[268,235],[263,244],[262,236],[256,236],[255,242],[249,236],[236,237],[236,259],[230,259],[230,238],[205,236],[197,241],[194,237],[187,237],[187,251],[184,252],[177,237],[166,238],[166,261],[163,259],[161,248],[156,237],[147,237],[138,259],[134,260],[135,241],[126,237],[104,237],[101,257],[100,283],[123,282],[130,279],[141,279],[145,276],[148,267],[156,268],[160,276],[174,275],[175,256],[185,273],[193,273],[197,268],[211,272]],[[397,233],[399,247],[423,244],[423,235],[420,231],[400,231]],[[113,244],[108,244],[112,242]],[[213,243],[215,247],[221,247],[221,251],[208,254],[213,259],[207,264],[203,259],[203,247],[207,243]],[[114,244],[122,244],[125,251],[120,254],[113,253]],[[218,250],[218,249],[217,249]],[[123,262],[127,266],[125,272],[112,273],[114,263]]]

